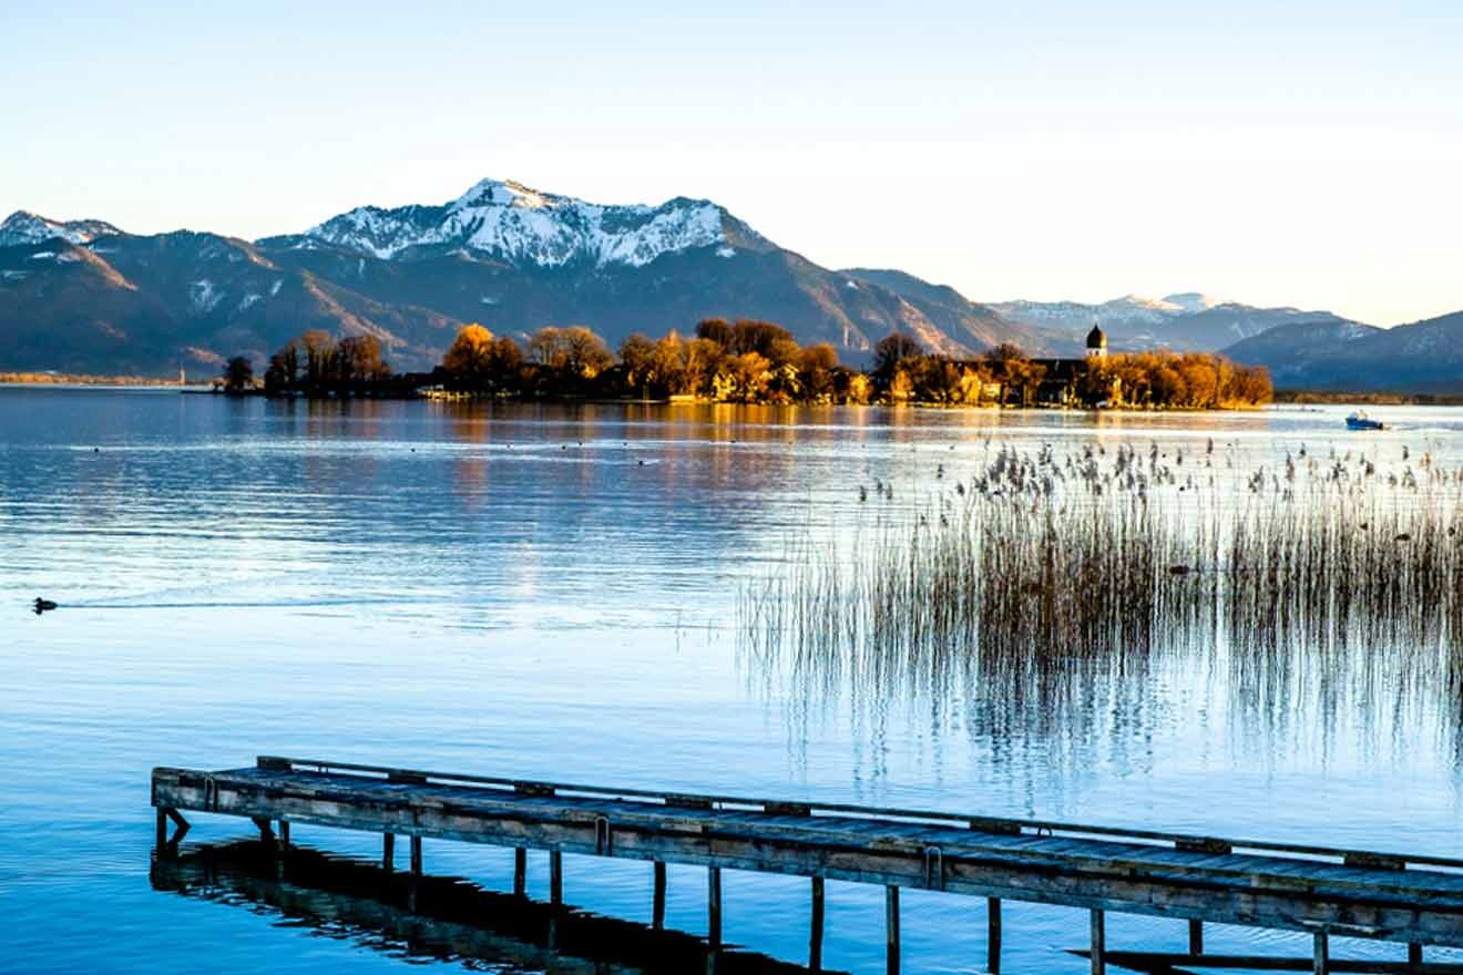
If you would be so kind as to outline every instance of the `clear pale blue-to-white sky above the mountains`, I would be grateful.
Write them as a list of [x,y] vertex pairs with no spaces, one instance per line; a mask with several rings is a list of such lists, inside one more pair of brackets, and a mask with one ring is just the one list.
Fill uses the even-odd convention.
[[50,0],[0,91],[0,215],[252,238],[490,175],[985,301],[1463,308],[1459,0]]

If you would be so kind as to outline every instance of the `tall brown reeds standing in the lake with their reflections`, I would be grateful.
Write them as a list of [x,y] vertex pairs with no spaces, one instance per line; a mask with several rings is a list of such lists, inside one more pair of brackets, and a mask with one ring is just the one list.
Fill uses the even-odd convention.
[[1198,707],[1257,756],[1456,753],[1460,488],[1428,456],[999,449],[913,513],[866,485],[854,526],[745,586],[739,645],[794,726],[960,712],[995,760],[1026,741],[1080,767]]

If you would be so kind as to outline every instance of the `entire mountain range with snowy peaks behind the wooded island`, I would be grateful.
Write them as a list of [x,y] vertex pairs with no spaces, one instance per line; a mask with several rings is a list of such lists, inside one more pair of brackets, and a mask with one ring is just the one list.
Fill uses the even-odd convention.
[[686,197],[607,206],[483,180],[442,205],[361,206],[256,241],[25,210],[0,224],[0,371],[212,370],[236,354],[263,361],[312,327],[375,335],[394,367],[427,368],[467,322],[509,335],[582,323],[617,345],[717,316],[778,322],[854,363],[894,330],[949,355],[1002,342],[1069,355],[1096,322],[1115,351],[1225,351],[1282,387],[1463,384],[1438,354],[1463,316],[1383,330],[1198,292],[985,304],[903,270],[822,268]]

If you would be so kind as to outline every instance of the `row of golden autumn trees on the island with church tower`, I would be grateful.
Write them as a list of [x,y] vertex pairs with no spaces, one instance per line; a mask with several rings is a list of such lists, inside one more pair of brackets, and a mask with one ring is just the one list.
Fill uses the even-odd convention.
[[228,361],[228,392],[271,396],[413,396],[427,387],[493,399],[689,399],[733,403],[932,403],[949,406],[1153,406],[1213,409],[1270,402],[1264,368],[1210,352],[1037,360],[1014,345],[976,358],[926,352],[894,333],[872,368],[832,345],[799,345],[771,322],[707,319],[692,335],[636,332],[612,352],[584,326],[544,326],[519,344],[481,325],[458,332],[432,373],[394,374],[376,336],[312,330],[271,358],[262,384],[247,357]]

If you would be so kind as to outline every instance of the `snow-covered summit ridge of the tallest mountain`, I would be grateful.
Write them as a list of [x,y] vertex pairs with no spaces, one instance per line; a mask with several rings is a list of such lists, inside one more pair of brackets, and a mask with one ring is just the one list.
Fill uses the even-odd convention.
[[[363,206],[304,232],[301,247],[331,244],[385,260],[418,247],[464,250],[512,263],[641,268],[661,254],[756,238],[708,200],[606,206],[512,180],[480,180],[440,206]],[[759,240],[759,238],[758,238]]]

